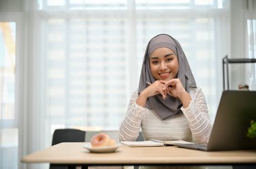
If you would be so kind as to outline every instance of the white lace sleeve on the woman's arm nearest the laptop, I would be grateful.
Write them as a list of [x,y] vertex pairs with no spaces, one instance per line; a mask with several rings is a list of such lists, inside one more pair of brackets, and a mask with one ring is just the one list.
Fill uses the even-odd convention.
[[188,120],[194,142],[205,144],[212,131],[206,100],[201,89],[192,89],[190,94],[192,100],[189,107],[181,110]]

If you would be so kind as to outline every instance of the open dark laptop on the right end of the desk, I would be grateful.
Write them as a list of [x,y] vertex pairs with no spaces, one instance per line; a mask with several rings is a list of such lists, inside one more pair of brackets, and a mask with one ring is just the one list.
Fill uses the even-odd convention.
[[223,91],[208,144],[175,144],[203,151],[256,150],[256,138],[247,137],[256,121],[256,91]]

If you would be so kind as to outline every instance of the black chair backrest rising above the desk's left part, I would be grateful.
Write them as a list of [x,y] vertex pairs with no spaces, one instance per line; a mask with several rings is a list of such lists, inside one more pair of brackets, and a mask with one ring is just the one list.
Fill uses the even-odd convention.
[[52,146],[62,142],[85,142],[86,131],[79,129],[55,129]]

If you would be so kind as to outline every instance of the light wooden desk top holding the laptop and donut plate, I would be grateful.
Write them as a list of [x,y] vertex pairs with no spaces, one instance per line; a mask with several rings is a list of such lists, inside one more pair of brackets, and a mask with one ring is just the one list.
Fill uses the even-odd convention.
[[174,146],[121,146],[115,153],[94,154],[82,148],[89,143],[62,143],[22,158],[24,163],[86,165],[231,165],[256,164],[256,150],[202,152]]

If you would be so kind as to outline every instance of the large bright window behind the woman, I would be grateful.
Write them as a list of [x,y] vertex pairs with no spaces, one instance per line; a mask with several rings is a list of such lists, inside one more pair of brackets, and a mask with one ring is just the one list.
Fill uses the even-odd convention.
[[118,129],[138,84],[146,44],[161,33],[181,42],[215,116],[220,60],[215,27],[222,1],[41,0],[38,9],[42,107],[52,132]]

